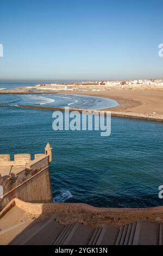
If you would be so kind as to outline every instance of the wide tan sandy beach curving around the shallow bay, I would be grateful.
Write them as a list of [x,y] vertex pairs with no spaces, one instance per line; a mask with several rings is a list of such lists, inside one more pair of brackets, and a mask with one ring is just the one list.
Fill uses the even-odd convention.
[[113,89],[101,92],[70,92],[67,94],[82,94],[89,96],[107,97],[116,100],[120,105],[105,110],[133,112],[140,114],[163,114],[163,90],[129,90]]

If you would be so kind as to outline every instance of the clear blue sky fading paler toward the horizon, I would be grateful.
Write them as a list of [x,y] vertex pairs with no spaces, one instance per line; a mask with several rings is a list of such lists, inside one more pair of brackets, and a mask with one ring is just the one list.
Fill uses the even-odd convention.
[[162,0],[0,2],[0,80],[163,78]]

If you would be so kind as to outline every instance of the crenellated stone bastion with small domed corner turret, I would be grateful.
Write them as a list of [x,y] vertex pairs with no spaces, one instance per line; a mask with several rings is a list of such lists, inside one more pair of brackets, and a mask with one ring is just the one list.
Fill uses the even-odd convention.
[[10,155],[0,155],[0,186],[3,187],[0,210],[14,198],[35,203],[52,202],[51,161],[52,148],[49,144],[45,154],[35,154],[34,160],[30,154],[14,155],[14,161],[10,160]]

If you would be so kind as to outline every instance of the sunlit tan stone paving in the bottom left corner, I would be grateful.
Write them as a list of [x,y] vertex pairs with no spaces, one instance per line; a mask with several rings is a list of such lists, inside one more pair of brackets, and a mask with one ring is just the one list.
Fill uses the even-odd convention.
[[3,229],[0,232],[0,245],[9,245],[9,243],[11,243],[15,237],[22,233],[22,231],[25,230],[31,223],[32,221],[23,221],[12,225],[9,228]]

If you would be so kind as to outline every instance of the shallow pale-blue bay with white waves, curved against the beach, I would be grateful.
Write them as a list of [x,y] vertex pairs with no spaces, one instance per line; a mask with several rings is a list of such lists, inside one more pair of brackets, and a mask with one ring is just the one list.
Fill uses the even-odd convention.
[[118,102],[103,97],[78,94],[7,94],[0,95],[0,104],[9,106],[43,106],[100,110],[118,106]]

